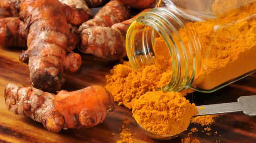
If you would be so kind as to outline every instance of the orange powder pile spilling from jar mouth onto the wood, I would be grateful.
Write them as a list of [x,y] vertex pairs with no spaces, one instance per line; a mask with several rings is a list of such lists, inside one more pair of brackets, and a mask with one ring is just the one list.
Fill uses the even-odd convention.
[[[110,75],[106,75],[106,89],[111,92],[118,105],[125,105],[131,109],[141,95],[149,91],[156,91],[170,82],[171,58],[163,38],[156,38],[154,47],[156,48],[155,54],[159,55],[156,65],[134,70],[129,62],[124,62],[124,64],[114,66]],[[192,90],[181,91],[183,96],[188,92],[192,92]]]

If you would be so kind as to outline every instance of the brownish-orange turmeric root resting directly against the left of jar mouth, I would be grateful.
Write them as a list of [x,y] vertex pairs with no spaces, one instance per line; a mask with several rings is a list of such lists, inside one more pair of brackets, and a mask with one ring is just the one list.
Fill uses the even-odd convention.
[[[145,9],[142,12],[149,10]],[[110,61],[118,61],[124,58],[126,56],[126,33],[135,17],[113,24],[111,28],[95,26],[83,30],[79,50]]]

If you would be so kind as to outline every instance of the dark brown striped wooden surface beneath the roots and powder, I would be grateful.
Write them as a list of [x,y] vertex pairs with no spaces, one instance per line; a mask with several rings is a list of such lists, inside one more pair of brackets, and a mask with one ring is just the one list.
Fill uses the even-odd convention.
[[[29,69],[27,65],[18,60],[22,49],[0,47],[0,142],[40,142],[40,143],[115,143],[118,140],[122,119],[128,117],[131,120],[131,129],[134,134],[134,142],[138,143],[179,143],[181,138],[187,136],[187,131],[181,136],[167,141],[152,140],[146,136],[136,125],[131,116],[131,110],[116,107],[102,124],[90,129],[68,129],[60,133],[48,132],[41,123],[32,119],[14,115],[9,112],[4,103],[4,88],[8,83],[20,86],[30,86]],[[77,73],[65,73],[66,84],[64,89],[68,91],[81,89],[89,85],[105,85],[105,75],[116,64],[103,59],[95,59],[91,55],[82,54],[82,67]],[[239,96],[256,95],[256,74],[229,85],[217,92],[203,94],[194,92],[187,96],[196,105],[233,102]],[[158,123],[156,123],[158,124]],[[191,124],[188,129],[197,127],[198,133],[193,137],[203,142],[225,143],[256,143],[256,117],[247,117],[243,113],[231,113],[222,116],[215,124],[211,125],[210,136],[201,132],[204,127]],[[218,133],[214,135],[214,132]],[[115,133],[115,135],[112,135]]]

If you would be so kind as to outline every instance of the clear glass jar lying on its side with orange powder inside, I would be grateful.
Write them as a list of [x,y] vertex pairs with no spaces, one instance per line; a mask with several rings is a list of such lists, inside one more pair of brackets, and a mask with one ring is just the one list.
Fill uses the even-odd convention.
[[159,0],[127,32],[134,69],[155,64],[158,37],[172,59],[163,90],[216,91],[256,72],[256,0]]

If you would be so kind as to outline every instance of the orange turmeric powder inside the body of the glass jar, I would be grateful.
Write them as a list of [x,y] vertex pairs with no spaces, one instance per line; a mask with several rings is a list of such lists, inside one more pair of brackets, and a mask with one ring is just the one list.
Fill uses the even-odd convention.
[[[196,87],[213,89],[256,69],[256,2],[244,5],[251,0],[236,1],[225,0],[229,9],[223,0],[215,0],[212,9],[217,19],[188,23],[202,46],[202,70],[193,82]],[[220,7],[229,11],[219,14]]]

